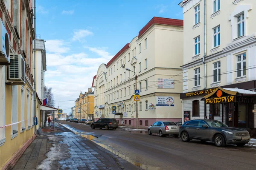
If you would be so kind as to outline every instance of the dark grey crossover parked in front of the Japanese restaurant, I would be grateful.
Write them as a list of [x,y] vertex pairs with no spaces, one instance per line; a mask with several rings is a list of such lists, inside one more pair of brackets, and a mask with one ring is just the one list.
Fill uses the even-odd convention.
[[241,128],[228,127],[217,120],[190,120],[180,127],[180,137],[183,142],[191,139],[199,139],[202,142],[212,141],[218,147],[226,144],[236,144],[244,146],[250,142],[250,135],[247,130]]

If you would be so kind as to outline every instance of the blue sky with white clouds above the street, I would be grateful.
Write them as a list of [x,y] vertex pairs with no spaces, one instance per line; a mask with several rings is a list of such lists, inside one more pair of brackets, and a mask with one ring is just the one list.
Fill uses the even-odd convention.
[[70,113],[108,61],[153,18],[183,19],[181,0],[37,0],[36,34],[46,40],[45,85]]

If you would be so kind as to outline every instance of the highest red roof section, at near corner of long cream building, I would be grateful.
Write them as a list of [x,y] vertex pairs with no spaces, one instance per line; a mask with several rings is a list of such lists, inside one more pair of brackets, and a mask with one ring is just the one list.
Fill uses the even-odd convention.
[[161,18],[161,17],[153,17],[146,26],[144,26],[140,32],[139,37],[141,37],[147,30],[154,24],[162,24],[169,26],[183,26],[183,20],[171,19],[171,18]]

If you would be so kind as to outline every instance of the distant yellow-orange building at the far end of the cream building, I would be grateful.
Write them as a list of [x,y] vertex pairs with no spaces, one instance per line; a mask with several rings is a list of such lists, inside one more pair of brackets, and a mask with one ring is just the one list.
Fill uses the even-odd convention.
[[[81,113],[79,113],[79,110]],[[88,92],[84,94],[80,93],[76,100],[76,115],[73,118],[94,119],[94,92],[91,88],[88,88]]]

